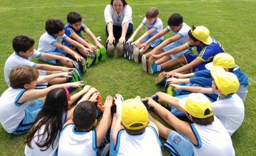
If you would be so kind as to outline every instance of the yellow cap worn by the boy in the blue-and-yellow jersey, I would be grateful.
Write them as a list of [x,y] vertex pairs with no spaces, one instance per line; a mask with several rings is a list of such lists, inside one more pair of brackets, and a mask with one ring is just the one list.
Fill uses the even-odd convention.
[[210,31],[204,26],[197,26],[194,30],[191,29],[192,35],[204,44],[211,44],[212,39],[210,37]]

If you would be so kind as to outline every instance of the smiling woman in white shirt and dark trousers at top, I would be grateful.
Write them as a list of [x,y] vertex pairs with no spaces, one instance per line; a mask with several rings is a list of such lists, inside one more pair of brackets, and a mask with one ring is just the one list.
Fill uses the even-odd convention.
[[111,0],[104,11],[106,21],[106,47],[108,55],[114,56],[115,43],[124,44],[133,31],[132,8],[125,0]]

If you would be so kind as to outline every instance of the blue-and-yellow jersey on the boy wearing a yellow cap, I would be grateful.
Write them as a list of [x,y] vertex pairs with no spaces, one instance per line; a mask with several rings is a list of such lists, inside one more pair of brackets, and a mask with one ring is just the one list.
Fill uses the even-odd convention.
[[225,52],[225,50],[217,40],[215,40],[213,37],[211,37],[211,39],[212,43],[210,45],[204,44],[203,47],[200,47],[199,45],[193,46],[189,41],[186,43],[186,45],[188,48],[196,47],[196,51],[199,52],[198,56],[196,57],[197,59],[204,62],[212,62],[215,55]]

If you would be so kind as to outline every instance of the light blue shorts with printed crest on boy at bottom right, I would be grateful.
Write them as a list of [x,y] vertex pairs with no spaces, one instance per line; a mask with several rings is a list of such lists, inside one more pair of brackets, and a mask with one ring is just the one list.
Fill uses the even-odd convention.
[[177,133],[170,132],[165,144],[163,145],[173,156],[193,156],[193,144],[186,137]]

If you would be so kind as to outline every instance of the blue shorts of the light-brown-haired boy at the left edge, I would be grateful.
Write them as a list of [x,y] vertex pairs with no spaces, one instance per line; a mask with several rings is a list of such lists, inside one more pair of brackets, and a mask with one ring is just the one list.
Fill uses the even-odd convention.
[[25,108],[25,116],[18,125],[18,127],[12,132],[15,135],[21,135],[29,131],[39,111],[41,111],[44,103],[42,99],[30,101]]

